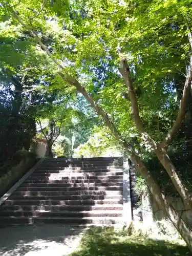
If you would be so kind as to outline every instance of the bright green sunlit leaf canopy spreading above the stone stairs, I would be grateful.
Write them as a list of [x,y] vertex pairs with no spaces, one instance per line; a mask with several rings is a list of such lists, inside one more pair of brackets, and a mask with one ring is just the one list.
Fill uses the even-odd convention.
[[[9,4],[48,47],[63,73],[76,77],[108,113],[122,136],[128,139],[135,135],[139,140],[129,96],[118,72],[120,48],[129,59],[146,130],[155,139],[162,138],[175,118],[175,87],[182,79],[178,74],[185,72],[190,55],[185,15],[190,23],[191,7],[187,0],[23,0],[16,6],[14,1]],[[16,54],[21,74],[29,74],[27,68],[35,68],[33,75],[41,80],[52,74],[54,82],[49,90],[60,89],[74,97],[74,89],[57,74],[59,68],[28,35],[30,32],[21,28],[7,3],[4,5],[11,18],[6,21],[8,25],[4,23],[9,29],[2,30],[2,35],[18,41],[27,33],[23,41],[29,42],[23,51],[21,46],[15,49],[16,42],[12,44],[13,53],[5,55],[7,67],[12,67]],[[2,49],[8,53],[6,46]],[[13,65],[13,70],[17,69],[18,63]]]

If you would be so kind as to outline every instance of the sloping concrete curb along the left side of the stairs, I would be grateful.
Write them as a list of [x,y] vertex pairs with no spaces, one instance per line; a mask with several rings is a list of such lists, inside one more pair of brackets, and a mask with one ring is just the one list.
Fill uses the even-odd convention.
[[13,192],[36,170],[36,168],[45,160],[45,158],[41,158],[39,159],[39,161],[33,165],[33,167],[28,170],[28,172],[19,180],[17,181],[17,183],[15,183],[8,191],[5,195],[3,195],[3,197],[0,198],[0,205],[2,205],[5,200],[8,199],[8,197],[10,197]]

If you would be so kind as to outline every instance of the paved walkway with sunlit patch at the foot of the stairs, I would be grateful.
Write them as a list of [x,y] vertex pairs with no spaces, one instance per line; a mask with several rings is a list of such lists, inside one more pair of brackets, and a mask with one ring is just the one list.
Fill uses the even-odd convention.
[[79,244],[83,228],[58,225],[0,229],[1,256],[65,256]]

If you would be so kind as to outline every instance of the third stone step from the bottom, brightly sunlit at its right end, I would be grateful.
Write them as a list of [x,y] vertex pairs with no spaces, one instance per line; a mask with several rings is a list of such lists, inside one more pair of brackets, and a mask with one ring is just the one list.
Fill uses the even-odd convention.
[[34,211],[34,210],[47,210],[47,211],[83,211],[83,210],[122,210],[122,204],[97,204],[97,205],[3,205],[2,210],[11,211]]

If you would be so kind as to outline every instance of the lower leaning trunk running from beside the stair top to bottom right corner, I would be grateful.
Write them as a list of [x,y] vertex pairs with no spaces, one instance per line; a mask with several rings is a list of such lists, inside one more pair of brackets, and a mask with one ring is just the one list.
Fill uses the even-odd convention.
[[173,208],[173,206],[170,205],[168,201],[165,199],[165,195],[161,192],[160,187],[155,182],[148,169],[142,163],[141,159],[134,153],[131,154],[131,159],[135,163],[135,167],[138,170],[138,172],[141,174],[141,176],[145,179],[146,183],[148,184],[152,196],[155,198],[157,204],[164,211],[164,214],[166,214],[170,222],[173,223],[173,225],[178,230],[183,240],[186,242],[188,248],[192,252],[192,230],[185,223],[185,221],[178,214],[178,212]]

